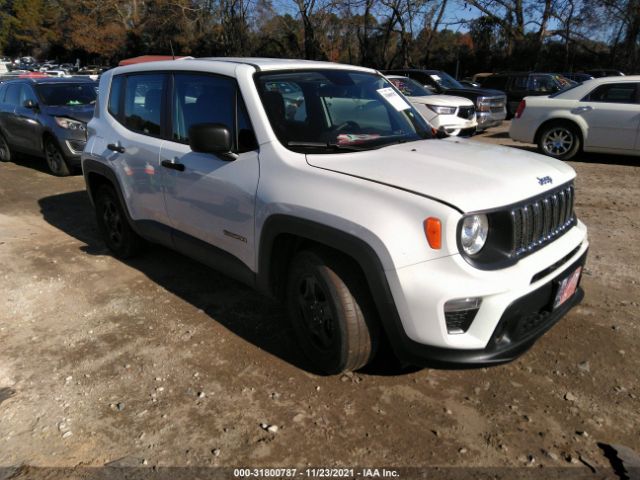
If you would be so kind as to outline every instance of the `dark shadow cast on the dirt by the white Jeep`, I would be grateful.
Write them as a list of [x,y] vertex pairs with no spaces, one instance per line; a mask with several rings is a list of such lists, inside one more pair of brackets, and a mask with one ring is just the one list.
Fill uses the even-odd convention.
[[[83,252],[109,255],[100,238],[86,191],[53,195],[38,203],[44,219],[81,241]],[[322,375],[298,347],[284,309],[277,301],[159,245],[149,245],[138,257],[123,262],[258,348],[297,368]],[[364,373],[398,375],[407,372],[397,362],[395,365],[389,362],[388,355],[390,352],[384,350],[382,357]]]

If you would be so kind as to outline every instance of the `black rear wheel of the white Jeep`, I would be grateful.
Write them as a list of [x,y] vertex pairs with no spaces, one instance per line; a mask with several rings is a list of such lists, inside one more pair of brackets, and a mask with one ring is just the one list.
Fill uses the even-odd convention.
[[95,205],[98,229],[109,250],[121,259],[135,256],[144,241],[129,225],[124,208],[111,185],[98,188]]

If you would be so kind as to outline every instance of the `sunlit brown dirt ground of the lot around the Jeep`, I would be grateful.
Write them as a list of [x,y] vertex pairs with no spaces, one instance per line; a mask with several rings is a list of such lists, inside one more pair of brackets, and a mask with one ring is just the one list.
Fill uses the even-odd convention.
[[[505,127],[474,141],[511,143]],[[111,257],[80,175],[0,164],[0,479],[107,464],[603,478],[599,443],[640,451],[639,162],[571,162],[586,297],[520,359],[330,377],[277,303],[162,247]]]

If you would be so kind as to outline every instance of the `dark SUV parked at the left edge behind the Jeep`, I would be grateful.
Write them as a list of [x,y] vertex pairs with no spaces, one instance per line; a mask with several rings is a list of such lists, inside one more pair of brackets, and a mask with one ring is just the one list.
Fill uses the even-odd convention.
[[54,175],[80,165],[98,84],[78,78],[24,78],[0,85],[0,161],[13,152],[44,157]]

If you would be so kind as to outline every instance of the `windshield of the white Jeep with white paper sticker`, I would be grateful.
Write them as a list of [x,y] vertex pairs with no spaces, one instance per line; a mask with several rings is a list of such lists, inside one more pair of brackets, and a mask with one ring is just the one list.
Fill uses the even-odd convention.
[[256,84],[278,140],[291,150],[368,150],[432,137],[425,120],[380,75],[263,73]]

